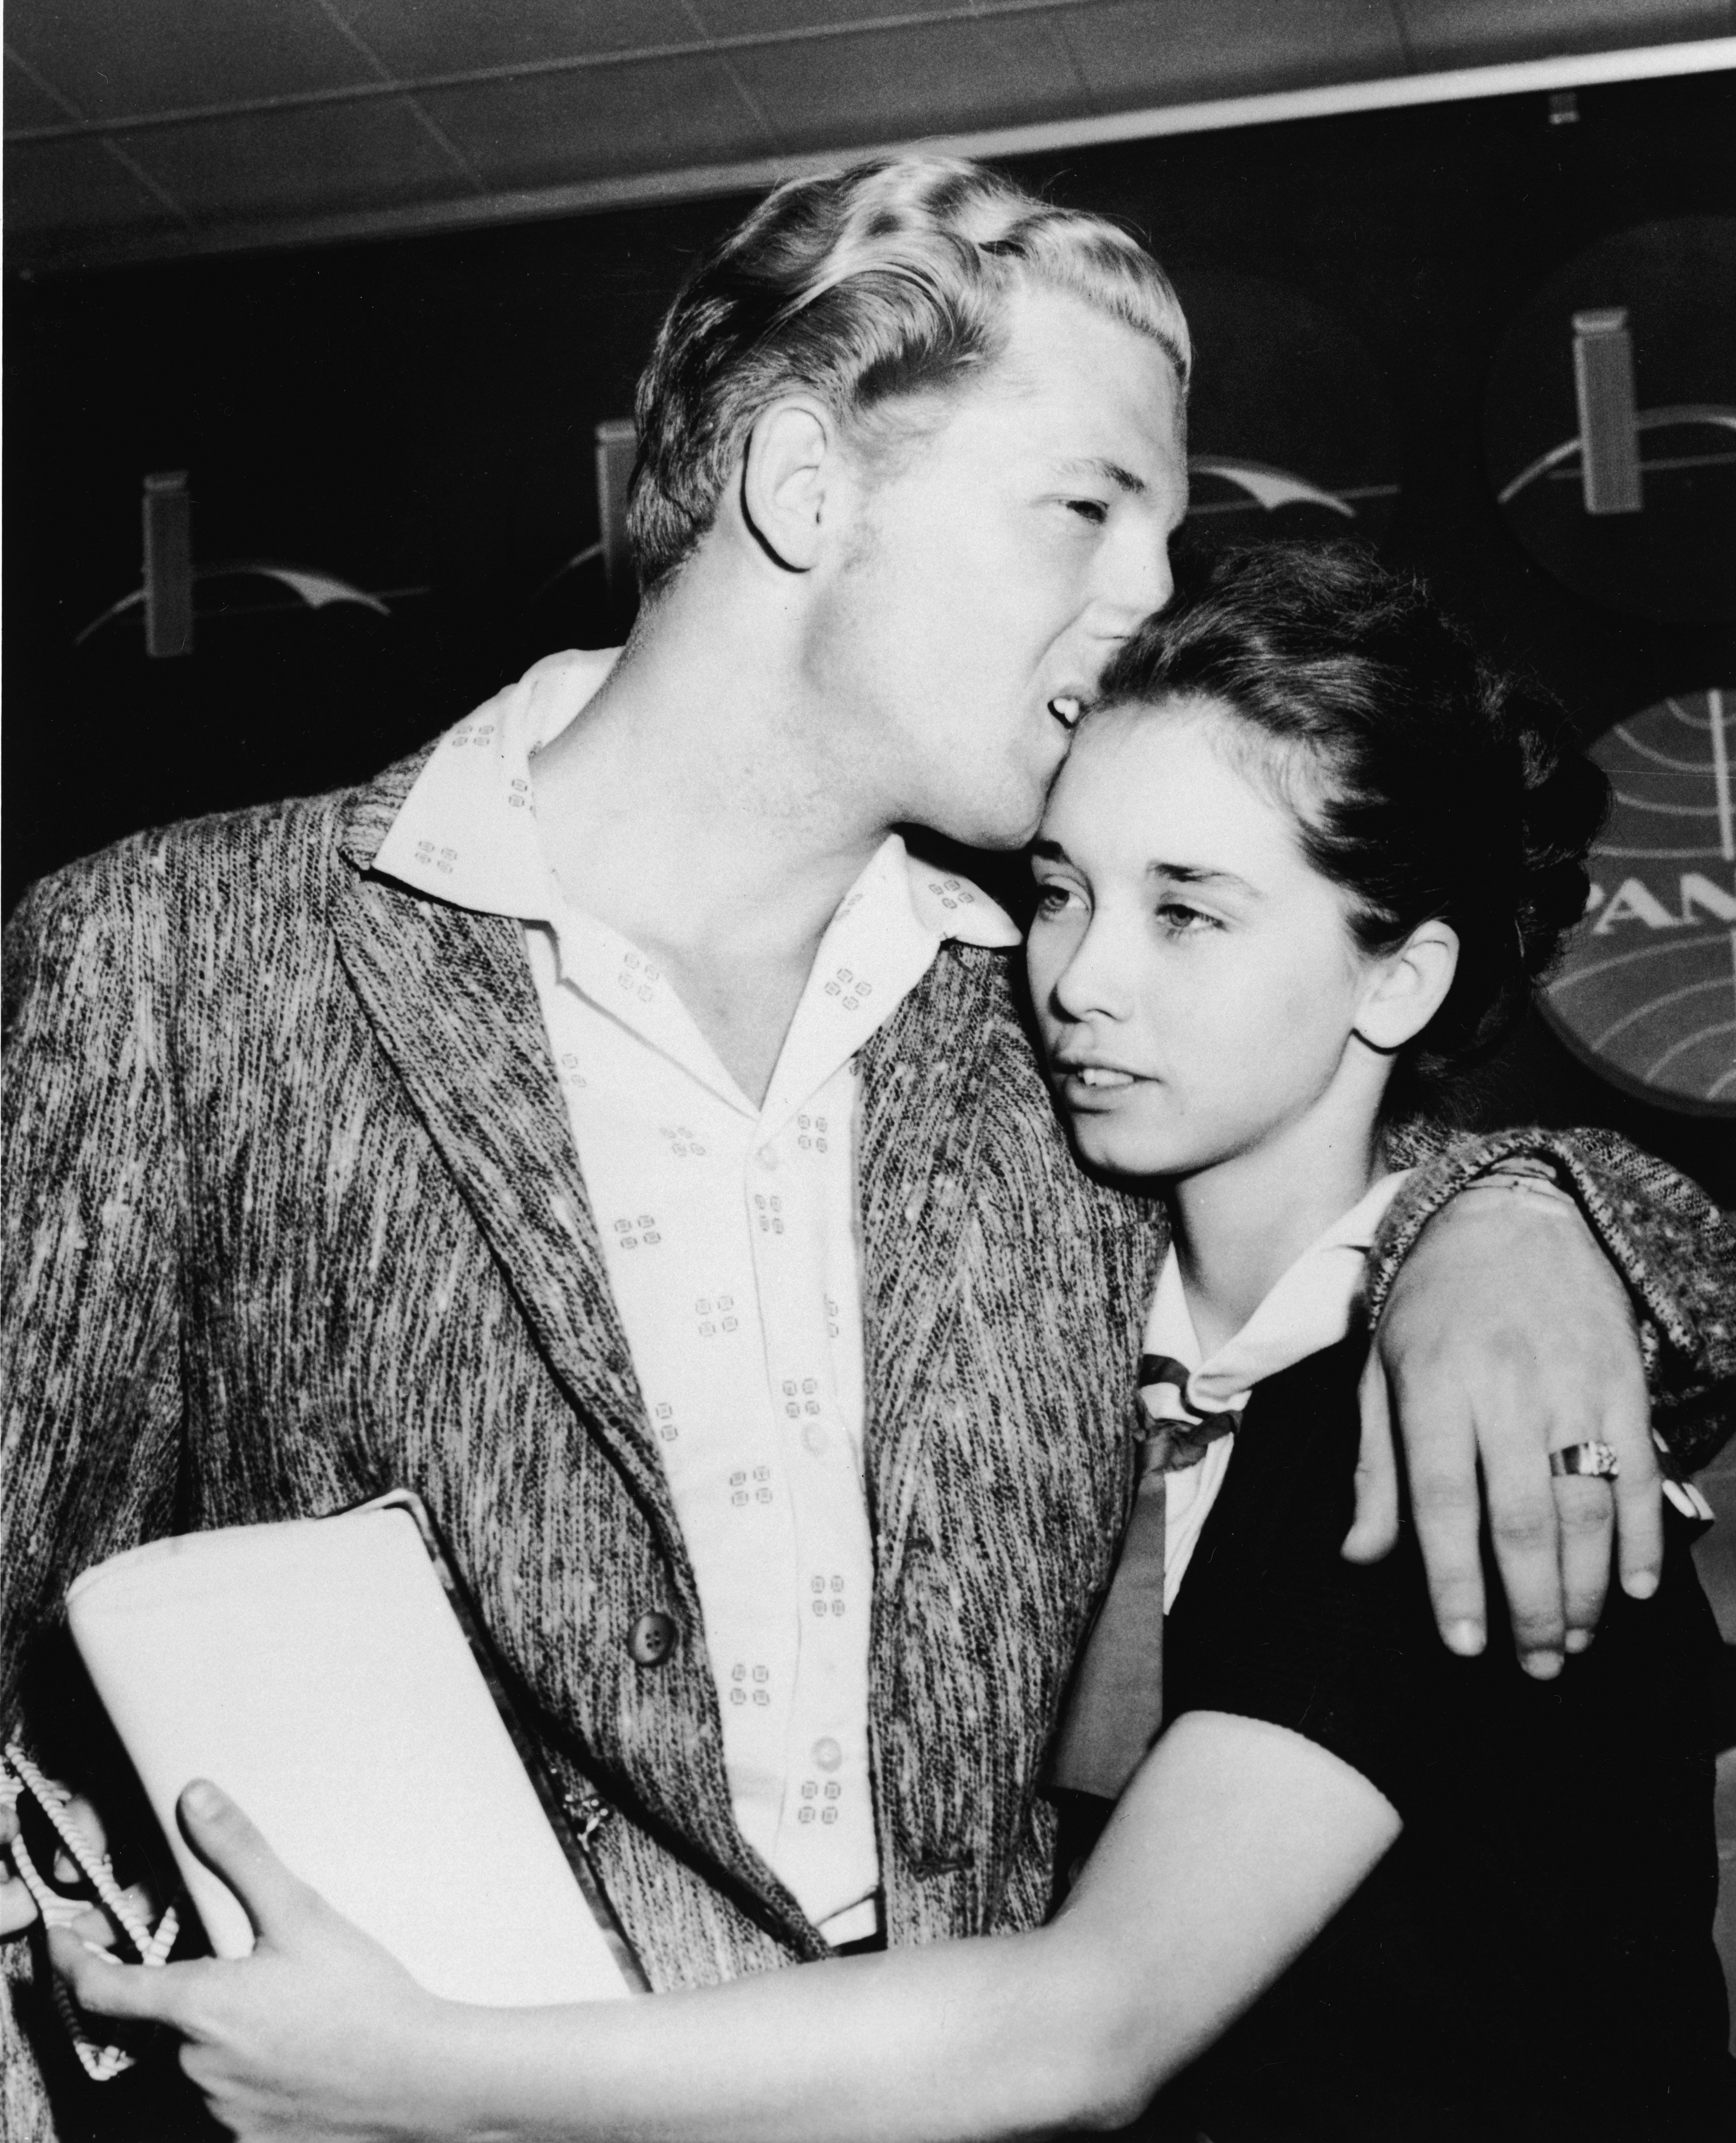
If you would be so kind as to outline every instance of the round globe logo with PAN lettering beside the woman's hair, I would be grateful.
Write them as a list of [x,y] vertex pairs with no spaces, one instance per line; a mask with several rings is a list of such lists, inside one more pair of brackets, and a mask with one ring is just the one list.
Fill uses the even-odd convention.
[[1736,1119],[1736,690],[1659,701],[1590,756],[1614,806],[1543,1009],[1616,1087]]

